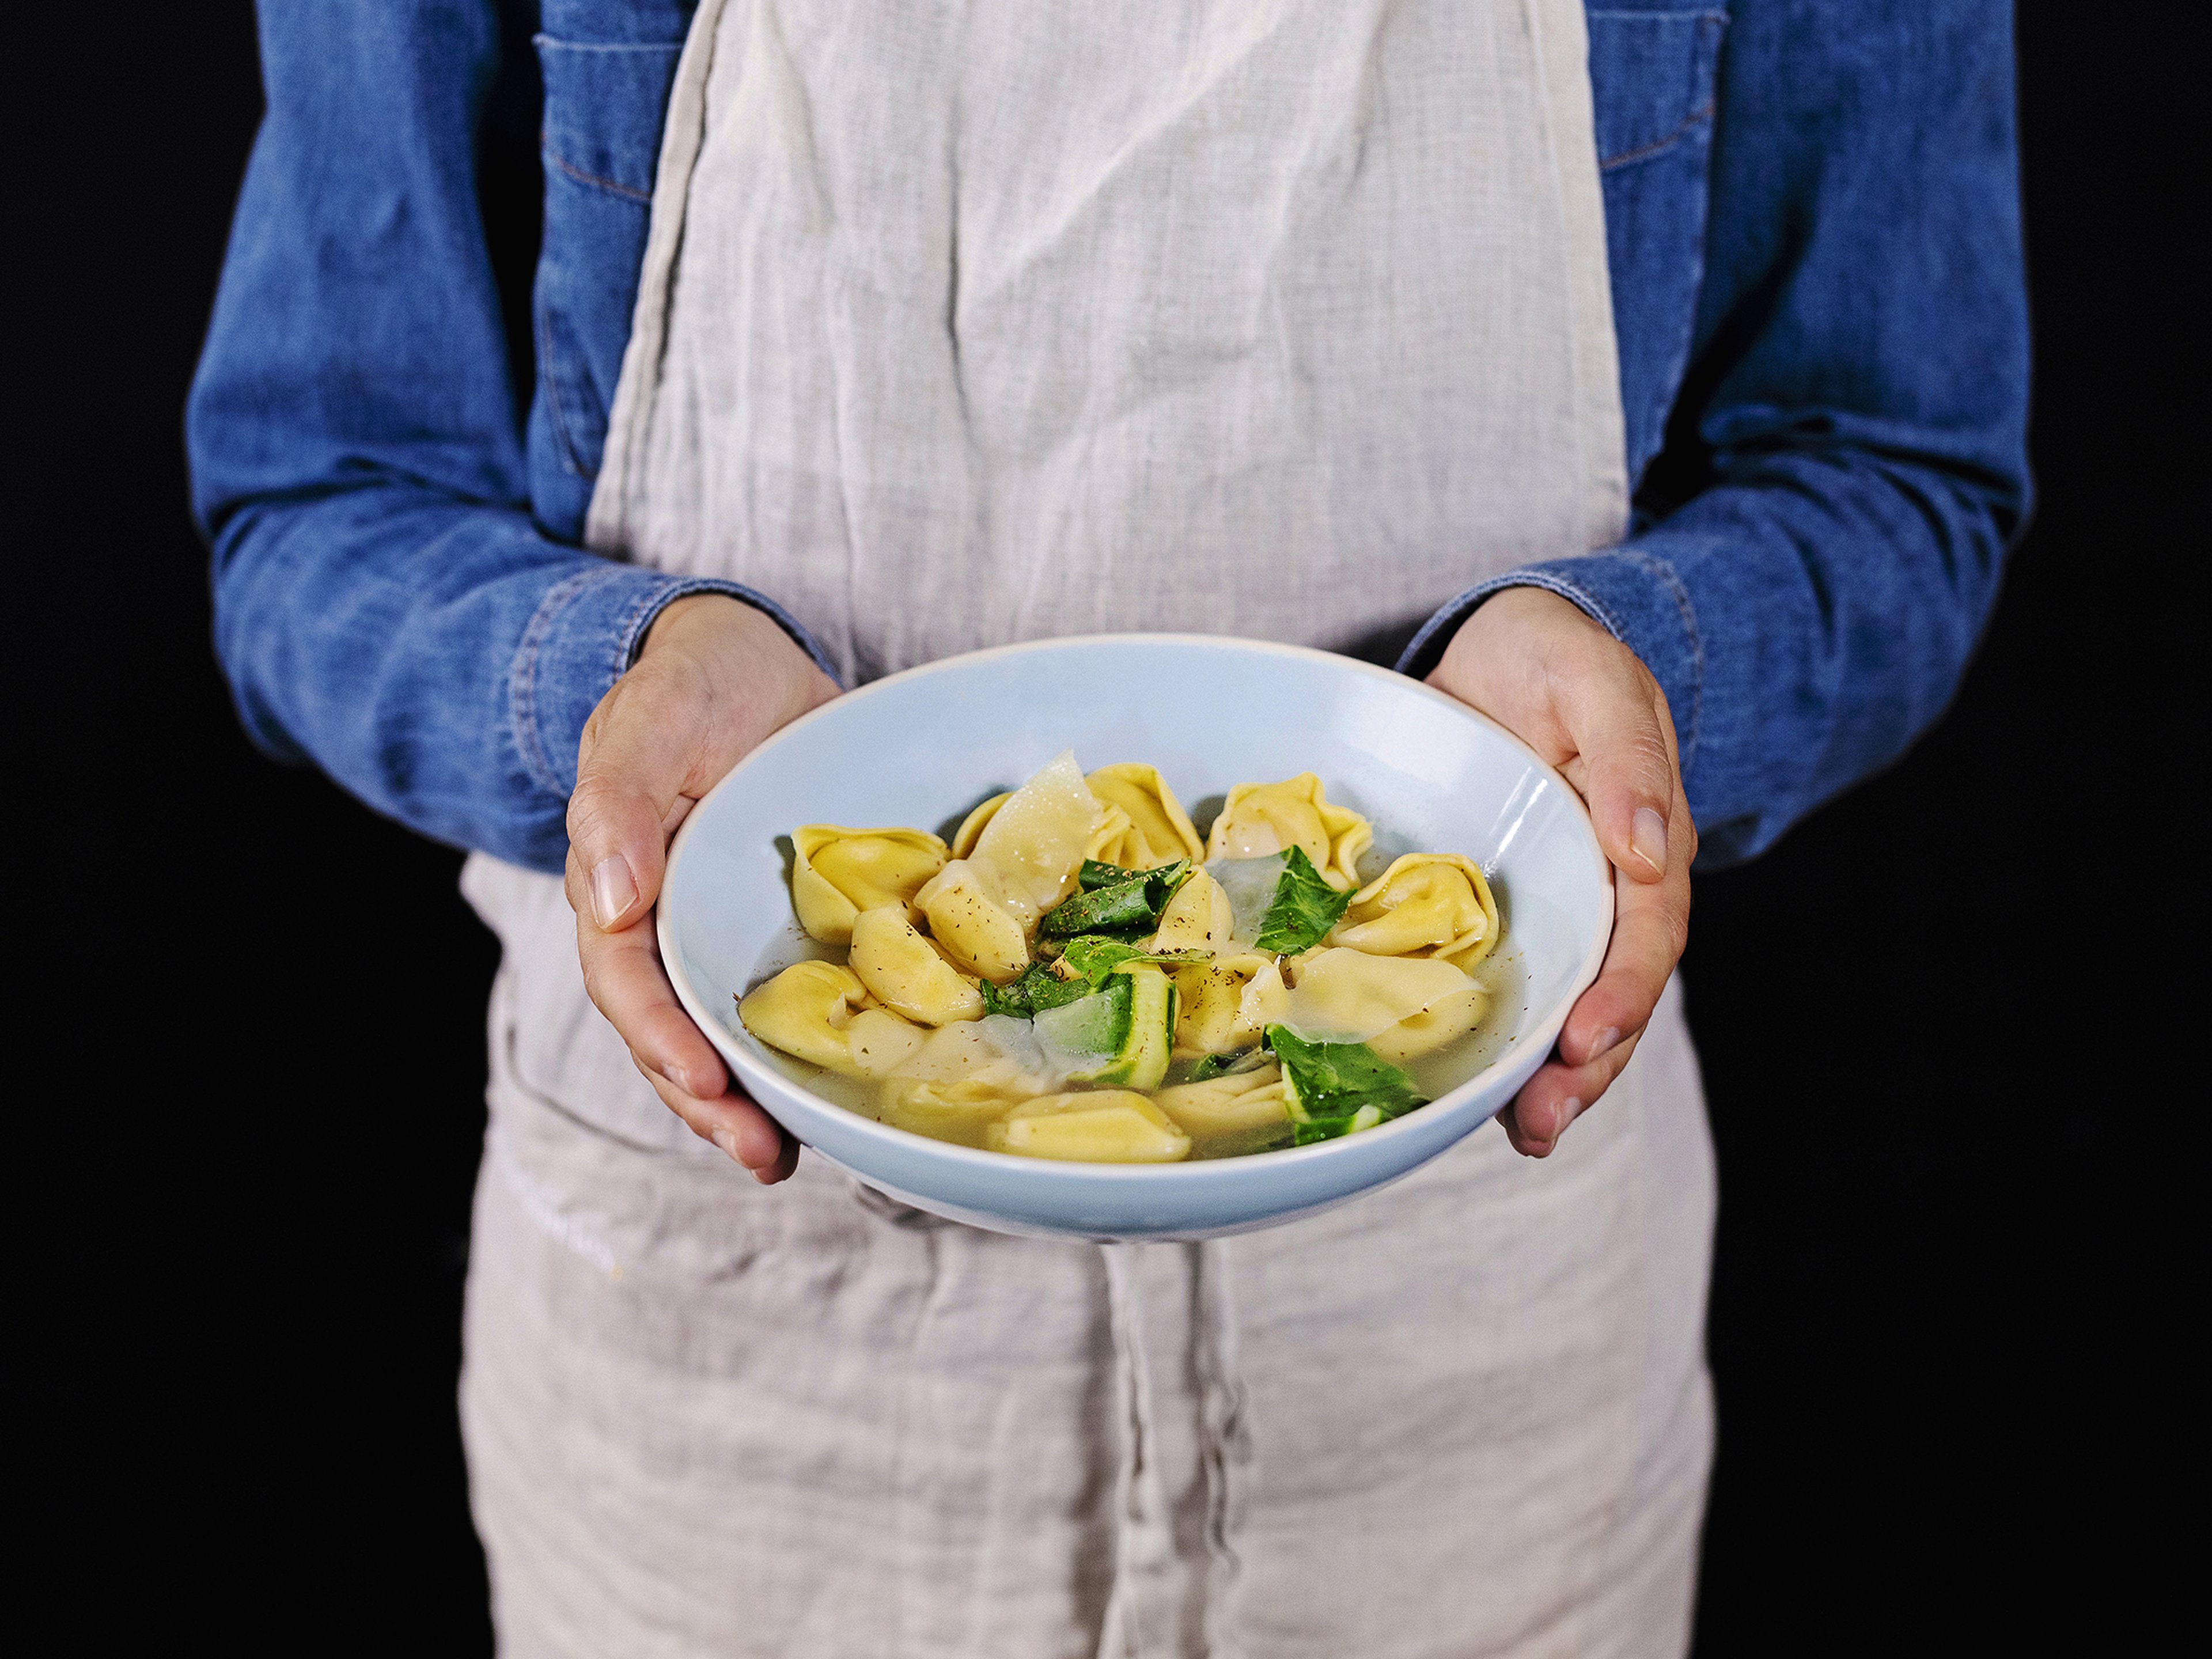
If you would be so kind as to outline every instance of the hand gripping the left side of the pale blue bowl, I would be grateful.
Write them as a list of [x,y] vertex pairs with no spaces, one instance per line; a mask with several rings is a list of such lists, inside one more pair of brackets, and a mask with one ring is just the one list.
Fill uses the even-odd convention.
[[752,1170],[781,1181],[799,1141],[737,1093],[661,969],[653,902],[668,836],[770,732],[836,686],[765,613],[721,593],[677,599],[584,721],[568,796],[568,905],[584,987],[653,1093]]

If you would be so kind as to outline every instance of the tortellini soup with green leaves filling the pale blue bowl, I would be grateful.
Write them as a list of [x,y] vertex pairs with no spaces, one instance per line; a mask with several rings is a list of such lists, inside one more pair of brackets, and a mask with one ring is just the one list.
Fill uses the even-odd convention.
[[792,907],[836,960],[737,1013],[854,1110],[980,1150],[1175,1164],[1360,1133],[1471,1071],[1502,931],[1475,860],[1367,858],[1363,883],[1371,845],[1312,772],[1239,783],[1201,836],[1157,768],[1064,752],[951,845],[794,830]]

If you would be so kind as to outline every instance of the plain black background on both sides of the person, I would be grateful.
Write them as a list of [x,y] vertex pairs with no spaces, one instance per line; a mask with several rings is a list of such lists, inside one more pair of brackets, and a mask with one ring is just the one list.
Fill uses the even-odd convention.
[[[186,520],[252,18],[49,11],[7,113],[24,1588],[73,1650],[487,1652],[453,1376],[495,947],[458,854],[246,745]],[[2159,1577],[2130,1493],[2179,1440],[2130,1354],[2203,1323],[2141,1230],[2203,1106],[2181,55],[2026,7],[2039,518],[1949,719],[1697,887],[1705,1659],[2126,1648]]]

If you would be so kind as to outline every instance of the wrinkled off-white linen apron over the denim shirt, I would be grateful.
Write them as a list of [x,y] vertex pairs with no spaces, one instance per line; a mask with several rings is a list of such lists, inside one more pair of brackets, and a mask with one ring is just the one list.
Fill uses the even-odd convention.
[[[1347,646],[1610,542],[1579,0],[706,0],[588,535],[852,677]],[[1141,757],[1088,757],[1106,759]],[[918,807],[920,810],[920,807]],[[1546,1161],[1055,1245],[757,1188],[489,858],[462,1418],[509,1655],[1674,1655],[1712,1155],[1674,991]]]

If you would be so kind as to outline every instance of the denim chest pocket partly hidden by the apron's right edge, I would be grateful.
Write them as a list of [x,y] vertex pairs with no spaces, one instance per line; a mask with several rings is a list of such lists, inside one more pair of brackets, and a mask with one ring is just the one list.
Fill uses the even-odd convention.
[[1590,11],[1590,100],[1630,487],[1659,453],[1705,274],[1721,11]]

